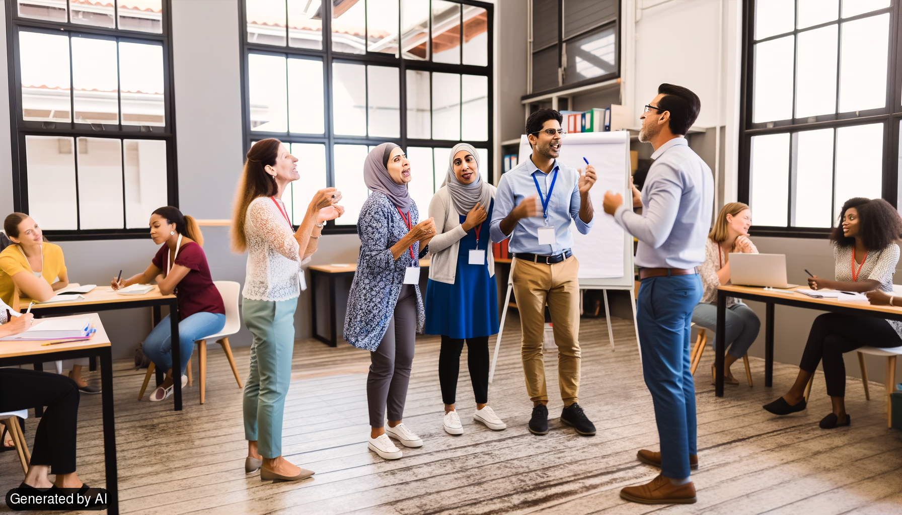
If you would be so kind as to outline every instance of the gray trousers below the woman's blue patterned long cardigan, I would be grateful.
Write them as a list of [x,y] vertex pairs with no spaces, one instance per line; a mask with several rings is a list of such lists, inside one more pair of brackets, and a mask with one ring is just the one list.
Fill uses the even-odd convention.
[[404,416],[404,401],[410,383],[414,338],[417,336],[417,290],[405,284],[382,341],[370,353],[370,374],[366,378],[366,403],[370,409],[370,426],[385,425]]

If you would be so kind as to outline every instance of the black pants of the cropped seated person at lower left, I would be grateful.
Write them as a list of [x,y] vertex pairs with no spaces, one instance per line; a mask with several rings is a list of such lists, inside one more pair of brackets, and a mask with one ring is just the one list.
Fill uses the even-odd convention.
[[51,474],[75,472],[78,385],[58,373],[0,368],[0,411],[46,406],[34,432],[32,464],[51,465]]

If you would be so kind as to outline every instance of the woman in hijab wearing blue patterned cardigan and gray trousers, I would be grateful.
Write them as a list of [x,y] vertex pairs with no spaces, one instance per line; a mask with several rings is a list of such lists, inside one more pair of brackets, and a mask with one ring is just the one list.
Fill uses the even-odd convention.
[[[364,161],[364,182],[373,193],[357,220],[360,257],[351,283],[345,339],[371,351],[366,400],[370,411],[369,448],[385,459],[401,457],[389,437],[408,447],[423,441],[401,423],[414,337],[423,332],[419,258],[436,235],[432,218],[419,222],[410,198],[410,161],[394,143],[375,147]],[[386,408],[388,427],[385,427]]]

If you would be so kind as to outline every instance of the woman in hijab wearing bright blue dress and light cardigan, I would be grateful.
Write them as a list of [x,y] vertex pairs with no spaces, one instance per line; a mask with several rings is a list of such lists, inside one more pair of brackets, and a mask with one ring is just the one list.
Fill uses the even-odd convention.
[[438,381],[445,402],[444,427],[451,435],[464,432],[455,409],[464,342],[476,398],[473,419],[491,429],[507,428],[487,405],[489,336],[498,333],[498,291],[492,238],[484,222],[492,219],[494,197],[495,187],[479,173],[479,154],[467,143],[456,144],[448,154],[445,182],[429,203],[437,233],[429,243],[425,331],[442,336]]

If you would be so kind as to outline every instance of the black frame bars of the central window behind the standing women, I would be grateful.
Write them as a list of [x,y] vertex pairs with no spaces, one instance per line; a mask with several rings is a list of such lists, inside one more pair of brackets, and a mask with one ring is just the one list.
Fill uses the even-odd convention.
[[[366,2],[367,0],[359,0],[360,2]],[[326,184],[329,187],[335,186],[336,178],[335,178],[335,145],[336,144],[355,144],[355,145],[378,145],[380,143],[392,142],[398,143],[405,152],[407,152],[408,147],[430,147],[430,148],[452,148],[456,143],[460,143],[463,140],[436,140],[436,139],[419,139],[419,138],[409,138],[407,137],[407,70],[417,70],[417,71],[428,71],[428,72],[444,72],[444,73],[454,73],[459,75],[477,75],[488,78],[488,116],[486,119],[486,124],[488,125],[488,139],[483,142],[470,142],[473,143],[477,148],[484,148],[487,150],[487,154],[484,156],[483,170],[485,171],[485,179],[487,182],[492,184],[493,181],[493,126],[494,126],[494,97],[493,97],[493,88],[494,88],[494,5],[486,2],[480,2],[478,0],[451,0],[453,3],[462,4],[462,5],[474,5],[476,7],[482,7],[486,11],[487,15],[487,64],[486,66],[478,66],[478,65],[466,65],[466,64],[448,64],[441,62],[433,62],[432,61],[432,15],[431,15],[431,2],[429,4],[429,38],[427,44],[429,45],[429,60],[406,60],[401,57],[400,45],[399,45],[399,57],[395,57],[391,54],[386,54],[382,52],[370,52],[366,51],[363,54],[352,54],[352,53],[344,53],[344,52],[335,52],[332,51],[332,3],[324,0],[321,4],[323,6],[324,12],[326,15],[323,16],[322,19],[322,34],[323,34],[323,46],[322,50],[313,50],[313,49],[305,49],[305,48],[297,48],[291,47],[286,41],[285,46],[275,46],[268,45],[262,43],[254,43],[251,41],[247,41],[247,7],[246,0],[241,0],[238,2],[238,33],[241,38],[241,101],[242,101],[242,134],[244,139],[244,154],[247,153],[251,148],[252,141],[260,141],[265,138],[278,138],[282,143],[320,143],[326,145]],[[364,13],[365,13],[365,4],[364,4]],[[399,26],[400,26],[400,0],[399,0]],[[365,18],[364,18],[365,19]],[[461,31],[461,44],[458,48],[463,50],[463,31],[464,31],[464,23],[460,23],[460,31]],[[367,45],[368,46],[368,45]],[[261,53],[266,55],[278,55],[285,56],[287,58],[291,57],[300,57],[300,58],[318,58],[323,62],[323,108],[325,109],[323,124],[324,124],[324,133],[322,135],[318,134],[301,134],[301,133],[270,133],[264,131],[252,131],[250,127],[251,123],[251,108],[250,108],[250,75],[249,75],[249,63],[248,56],[251,53]],[[333,62],[344,62],[350,64],[360,64],[360,65],[374,65],[374,66],[388,66],[392,68],[397,68],[399,71],[399,115],[400,115],[400,137],[391,138],[391,137],[380,137],[380,136],[351,136],[351,135],[336,135],[333,133],[333,106],[332,106],[332,63]],[[430,87],[430,109],[432,103],[432,77],[430,73],[429,77],[429,87]],[[463,93],[462,93],[463,94]],[[366,96],[367,98],[369,95]],[[430,116],[431,116],[430,111]],[[369,120],[369,109],[366,109],[367,121]],[[368,125],[368,122],[367,122]],[[420,207],[421,214],[420,217],[423,217],[425,213],[426,207]],[[295,225],[297,227],[297,225]],[[324,235],[339,235],[339,234],[356,234],[357,226],[356,225],[336,225],[334,220],[330,220],[323,227]]]

